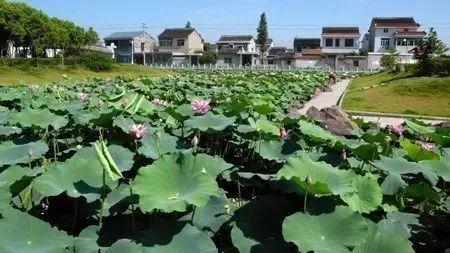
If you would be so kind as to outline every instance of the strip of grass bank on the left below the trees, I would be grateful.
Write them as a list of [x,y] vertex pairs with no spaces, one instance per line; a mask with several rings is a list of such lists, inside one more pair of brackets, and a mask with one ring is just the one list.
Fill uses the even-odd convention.
[[93,72],[83,67],[68,66],[62,67],[40,67],[21,69],[19,67],[0,67],[0,84],[39,84],[54,82],[64,79],[63,75],[75,79],[83,80],[88,77],[113,78],[120,75],[127,77],[139,77],[141,75],[149,77],[159,77],[173,74],[168,70],[153,69],[139,65],[116,65],[110,71]]

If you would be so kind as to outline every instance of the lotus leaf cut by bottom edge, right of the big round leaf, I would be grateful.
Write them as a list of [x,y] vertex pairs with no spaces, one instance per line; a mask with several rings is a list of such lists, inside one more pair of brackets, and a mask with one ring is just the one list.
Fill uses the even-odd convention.
[[352,251],[352,253],[380,252],[414,252],[412,243],[408,241],[408,235],[399,223],[381,220],[378,224],[370,224],[366,242]]

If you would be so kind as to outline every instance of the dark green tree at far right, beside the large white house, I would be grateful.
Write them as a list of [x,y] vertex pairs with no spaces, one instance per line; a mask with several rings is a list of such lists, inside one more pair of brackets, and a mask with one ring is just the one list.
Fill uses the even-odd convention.
[[438,38],[437,32],[434,28],[430,28],[422,44],[414,49],[414,55],[419,60],[417,74],[431,75],[433,72],[433,60],[443,56],[447,51],[448,48]]

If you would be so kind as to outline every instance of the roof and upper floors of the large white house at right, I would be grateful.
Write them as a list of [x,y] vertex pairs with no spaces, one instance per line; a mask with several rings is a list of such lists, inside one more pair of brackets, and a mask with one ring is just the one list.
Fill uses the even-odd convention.
[[400,54],[408,54],[426,35],[419,28],[420,24],[412,17],[373,18],[367,38],[368,51],[386,53],[395,49]]

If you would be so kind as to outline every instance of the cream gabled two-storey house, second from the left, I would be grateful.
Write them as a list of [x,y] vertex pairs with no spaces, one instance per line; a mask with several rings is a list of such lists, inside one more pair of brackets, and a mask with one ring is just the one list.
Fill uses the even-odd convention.
[[194,28],[166,29],[158,40],[156,64],[198,64],[204,48],[203,39]]

